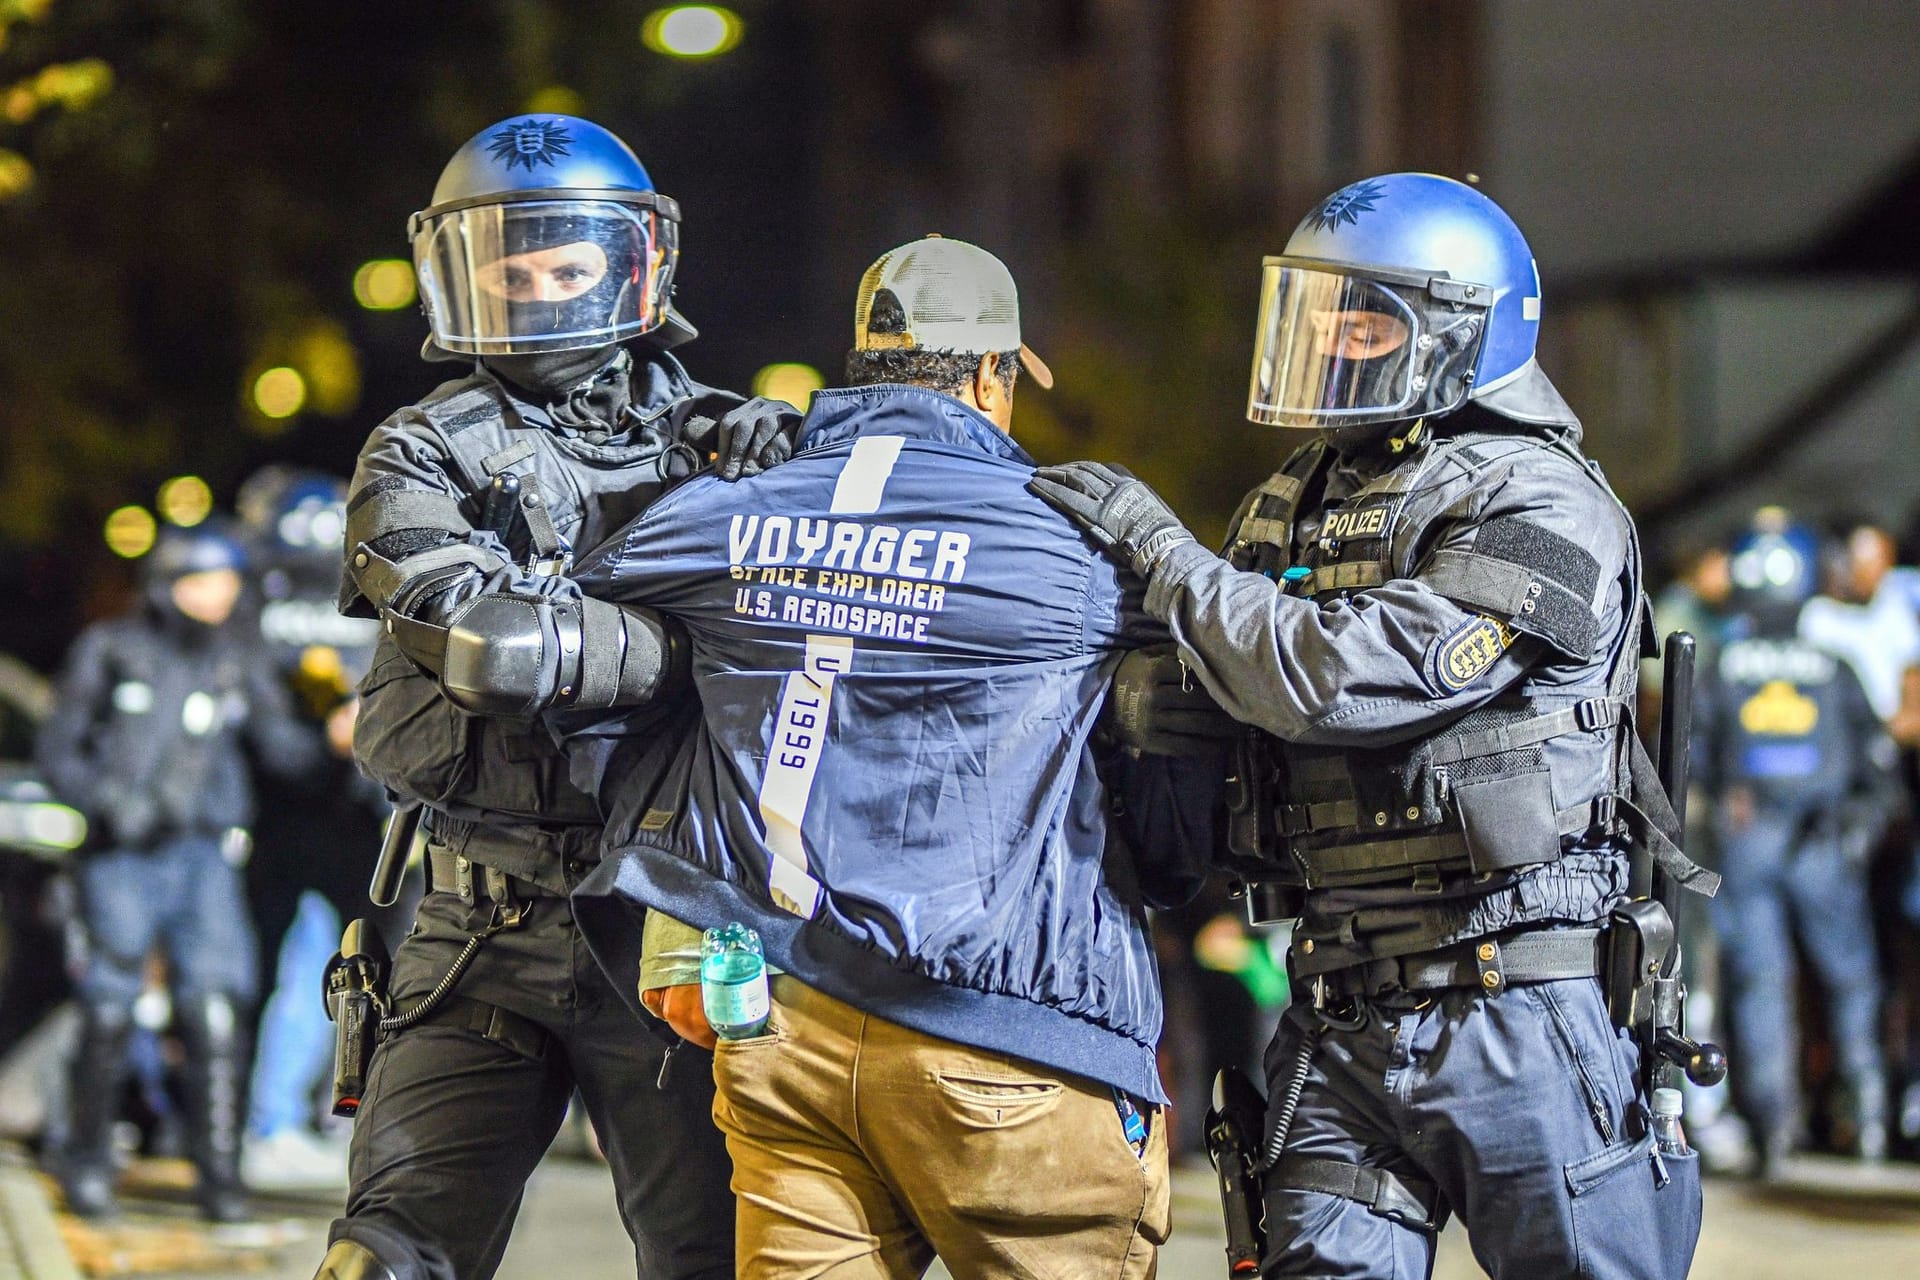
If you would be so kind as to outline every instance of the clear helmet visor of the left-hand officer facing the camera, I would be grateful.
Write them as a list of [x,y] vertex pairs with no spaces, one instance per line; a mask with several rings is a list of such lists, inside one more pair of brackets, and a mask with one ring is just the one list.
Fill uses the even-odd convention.
[[616,200],[532,200],[424,219],[413,265],[434,342],[513,355],[597,347],[660,324],[678,225]]

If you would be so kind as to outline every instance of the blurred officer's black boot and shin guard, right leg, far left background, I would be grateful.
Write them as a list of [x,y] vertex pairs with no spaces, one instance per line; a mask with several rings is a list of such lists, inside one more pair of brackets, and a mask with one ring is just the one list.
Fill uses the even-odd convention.
[[240,1182],[248,1084],[244,1013],[230,996],[204,996],[182,1002],[175,1019],[186,1046],[186,1126],[200,1169],[200,1209],[211,1222],[242,1222],[252,1213]]

